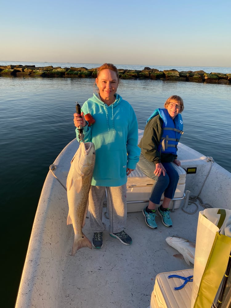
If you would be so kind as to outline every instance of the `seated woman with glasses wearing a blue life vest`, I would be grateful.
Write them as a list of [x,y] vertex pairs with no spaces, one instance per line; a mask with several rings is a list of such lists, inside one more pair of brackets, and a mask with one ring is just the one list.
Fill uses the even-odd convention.
[[[137,165],[148,177],[155,180],[148,206],[143,209],[145,222],[152,229],[157,228],[156,211],[166,227],[172,226],[168,206],[174,197],[179,175],[171,162],[180,166],[176,152],[180,136],[183,134],[183,120],[180,114],[183,110],[183,99],[177,95],[170,96],[163,109],[153,111],[140,140],[141,154]],[[159,206],[163,193],[163,204]]]

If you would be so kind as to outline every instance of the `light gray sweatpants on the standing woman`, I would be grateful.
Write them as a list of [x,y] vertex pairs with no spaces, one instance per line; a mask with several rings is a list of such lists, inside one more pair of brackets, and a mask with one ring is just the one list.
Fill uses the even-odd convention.
[[109,232],[124,230],[127,220],[126,184],[116,187],[91,186],[89,192],[89,220],[93,232],[102,232],[103,200],[107,190],[107,211],[109,215]]

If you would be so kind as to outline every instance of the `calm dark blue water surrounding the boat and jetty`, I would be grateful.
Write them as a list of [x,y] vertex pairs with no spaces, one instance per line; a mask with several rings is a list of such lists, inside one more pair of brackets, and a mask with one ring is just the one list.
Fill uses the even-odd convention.
[[[7,64],[16,63],[0,62],[0,65]],[[51,64],[54,67],[98,66],[83,63],[33,64]],[[117,65],[134,69],[143,69],[144,66],[155,67]],[[229,67],[176,69],[231,72]],[[50,164],[64,146],[75,138],[75,101],[82,105],[92,96],[93,84],[93,79],[0,77],[2,307],[14,307],[43,182]],[[140,128],[144,128],[148,116],[155,108],[163,107],[170,95],[180,95],[185,106],[182,113],[184,135],[180,141],[204,155],[212,156],[231,172],[230,86],[123,80],[118,93],[132,104]]]

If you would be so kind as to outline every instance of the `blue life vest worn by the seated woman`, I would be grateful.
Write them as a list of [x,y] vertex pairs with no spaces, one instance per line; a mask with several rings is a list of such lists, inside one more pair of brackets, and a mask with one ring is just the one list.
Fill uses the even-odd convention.
[[147,123],[158,114],[164,122],[162,125],[163,136],[160,140],[158,151],[160,153],[172,153],[176,155],[177,144],[180,140],[180,136],[184,133],[182,116],[178,113],[174,120],[172,120],[166,108],[157,108],[153,111],[152,115],[150,115]]

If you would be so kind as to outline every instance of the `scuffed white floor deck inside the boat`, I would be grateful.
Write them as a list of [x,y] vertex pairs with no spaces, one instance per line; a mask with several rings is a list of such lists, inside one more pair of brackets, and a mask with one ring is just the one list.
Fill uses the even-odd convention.
[[[156,217],[158,229],[151,229],[143,213],[128,213],[125,230],[132,237],[132,245],[123,245],[105,231],[101,249],[83,248],[75,256],[71,256],[74,232],[68,226],[57,307],[149,307],[158,273],[193,268],[182,257],[173,256],[178,252],[165,238],[178,235],[195,242],[198,214],[188,215],[176,209],[171,216],[173,227],[165,227]],[[108,220],[104,222],[108,226]],[[84,233],[92,238],[88,220]]]

